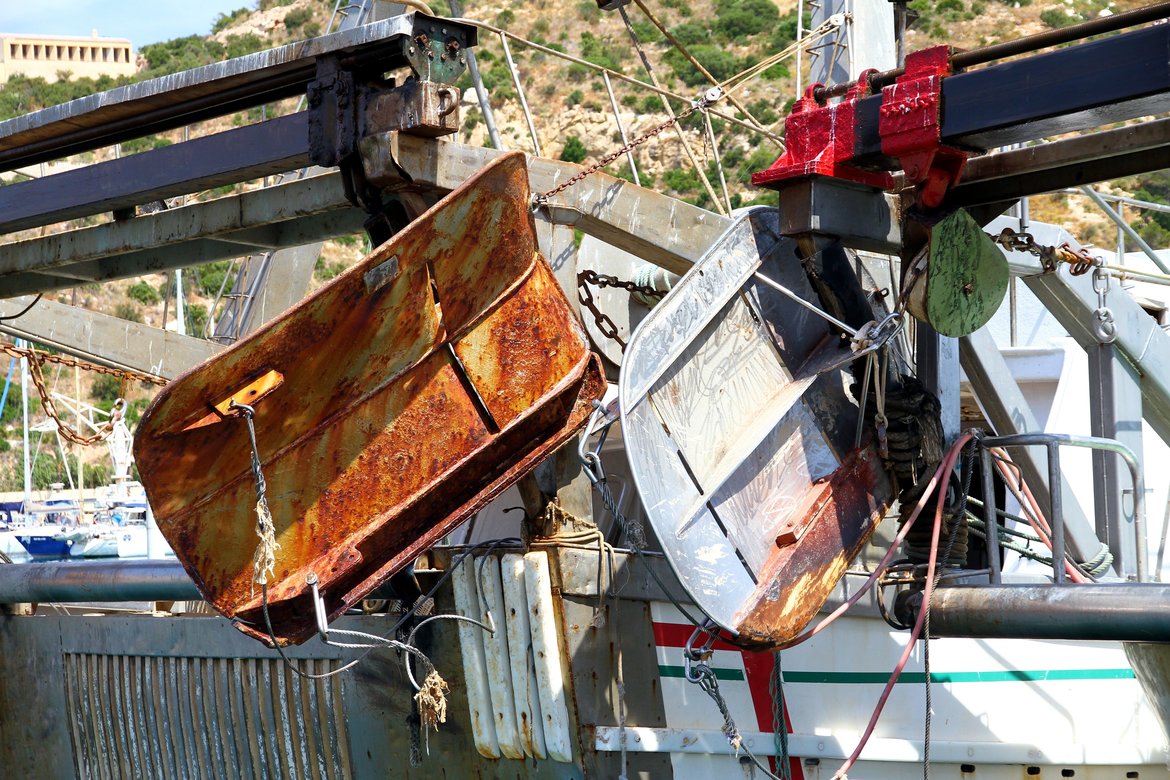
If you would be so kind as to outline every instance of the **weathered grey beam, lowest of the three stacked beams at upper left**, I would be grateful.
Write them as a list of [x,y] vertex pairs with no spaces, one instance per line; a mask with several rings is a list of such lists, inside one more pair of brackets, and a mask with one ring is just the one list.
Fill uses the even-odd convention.
[[[0,296],[295,247],[362,229],[337,173],[41,239],[0,244]],[[50,276],[46,276],[50,275]],[[73,277],[73,278],[70,278]]]

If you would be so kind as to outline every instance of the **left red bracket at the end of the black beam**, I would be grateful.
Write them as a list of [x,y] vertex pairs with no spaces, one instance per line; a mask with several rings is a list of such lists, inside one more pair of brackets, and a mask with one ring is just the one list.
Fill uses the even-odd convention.
[[751,174],[751,182],[772,187],[777,182],[811,175],[848,179],[889,189],[893,178],[883,171],[863,171],[849,164],[854,154],[858,99],[870,94],[867,70],[840,103],[828,105],[815,98],[821,84],[812,84],[792,106],[784,122],[784,154],[766,171]]

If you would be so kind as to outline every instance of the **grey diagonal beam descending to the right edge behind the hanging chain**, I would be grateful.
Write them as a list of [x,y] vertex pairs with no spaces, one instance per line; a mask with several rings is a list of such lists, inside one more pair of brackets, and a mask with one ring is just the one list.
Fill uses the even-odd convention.
[[[1000,216],[986,226],[989,233],[1004,227],[1019,230],[1019,220]],[[1080,243],[1066,230],[1042,222],[1030,222],[1037,243],[1060,246]],[[1094,332],[1093,312],[1097,308],[1092,275],[1071,276],[1067,268],[1045,274],[1039,258],[1026,253],[1004,253],[1012,274],[1023,276],[1057,322],[1085,348],[1100,341]],[[1162,441],[1170,442],[1170,336],[1127,292],[1116,284],[1108,296],[1108,308],[1116,323],[1115,344],[1131,364],[1137,366],[1143,401],[1143,416]]]

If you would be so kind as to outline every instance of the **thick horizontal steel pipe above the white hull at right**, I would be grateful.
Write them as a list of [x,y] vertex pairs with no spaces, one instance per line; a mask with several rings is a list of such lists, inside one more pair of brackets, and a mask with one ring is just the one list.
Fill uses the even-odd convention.
[[1170,585],[1161,582],[942,587],[930,602],[930,631],[976,639],[1166,642],[1166,603]]

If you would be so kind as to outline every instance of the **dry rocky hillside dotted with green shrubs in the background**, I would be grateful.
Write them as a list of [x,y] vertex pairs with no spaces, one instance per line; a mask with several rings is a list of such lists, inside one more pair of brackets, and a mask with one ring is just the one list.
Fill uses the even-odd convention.
[[[440,15],[450,15],[447,0],[429,0]],[[319,35],[330,29],[335,19],[333,0],[259,0],[259,5],[243,7],[221,15],[211,30],[193,30],[193,35],[145,46],[139,53],[139,74],[136,80],[156,77],[198,67],[208,62],[240,56],[268,47]],[[806,4],[807,5],[807,4]],[[909,7],[916,21],[908,33],[908,49],[935,43],[950,43],[973,48],[1020,35],[1061,27],[1076,21],[1116,13],[1144,5],[1142,0],[913,0]],[[751,69],[777,53],[791,47],[797,32],[796,0],[645,0],[645,7],[627,6],[631,25],[627,29],[617,12],[600,12],[594,0],[464,0],[463,15],[507,29],[517,39],[510,40],[511,54],[519,75],[519,85],[538,129],[537,143],[545,157],[577,163],[591,163],[619,149],[624,130],[627,138],[636,138],[656,127],[666,118],[662,99],[653,91],[618,77],[611,77],[617,119],[611,108],[611,95],[601,71],[589,64],[566,61],[570,57],[600,65],[617,74],[625,74],[641,82],[658,81],[674,95],[690,99],[702,95],[708,80],[693,64],[697,60],[720,82]],[[807,20],[806,20],[807,27]],[[660,27],[669,34],[662,33]],[[51,32],[51,30],[46,30]],[[204,34],[206,33],[206,34]],[[632,42],[636,37],[638,47]],[[484,83],[491,91],[496,123],[504,143],[514,149],[532,151],[528,123],[518,101],[518,91],[509,70],[498,36],[482,30],[477,57]],[[649,63],[647,75],[642,58]],[[775,138],[783,132],[783,117],[796,91],[796,62],[789,57],[770,63],[755,78],[735,92],[737,106],[724,102],[721,110],[741,120],[758,123],[760,130],[718,117],[710,129],[701,115],[693,115],[681,123],[682,132],[674,129],[659,133],[635,150],[635,164],[644,186],[651,186],[677,198],[708,208],[718,208],[723,200],[716,160],[722,163],[730,205],[737,207],[753,201],[769,202],[771,195],[750,187],[753,171],[768,167],[780,147]],[[41,80],[13,78],[0,89],[0,118],[73,99],[92,91],[117,85],[112,80],[78,80],[46,84]],[[487,145],[483,116],[474,101],[470,83],[464,76],[463,124],[460,140]],[[672,101],[679,112],[683,101]],[[118,153],[132,154],[149,149],[173,144],[184,138],[219,132],[226,127],[261,120],[294,111],[296,101],[253,109],[233,117],[193,125],[183,131],[150,136],[123,144]],[[619,127],[618,120],[621,126]],[[103,150],[64,160],[61,166],[85,165],[108,159],[115,150]],[[707,174],[710,189],[696,173],[689,159],[697,161]],[[56,170],[28,171],[27,175],[42,175]],[[610,166],[610,172],[633,178],[625,157]],[[5,181],[19,179],[7,174]],[[220,198],[241,188],[262,186],[248,182],[194,193],[192,199]],[[1157,198],[1170,194],[1170,181],[1157,177],[1124,182],[1129,191]],[[716,196],[713,198],[711,193]],[[178,205],[178,203],[174,203]],[[1069,225],[1085,240],[1106,241],[1107,230],[1100,219],[1093,218],[1085,205],[1067,196],[1037,199],[1033,213],[1038,219]],[[84,223],[97,223],[105,218],[90,218]],[[73,223],[71,226],[76,226]],[[1165,234],[1170,225],[1143,223],[1151,235]],[[40,232],[36,232],[37,234]],[[30,237],[33,233],[14,236]],[[343,237],[325,244],[318,261],[316,283],[336,276],[359,258],[366,249],[363,236]],[[216,262],[190,269],[184,274],[187,302],[187,332],[209,332],[215,317],[215,302],[220,290],[230,285],[234,265]],[[152,275],[104,285],[83,285],[55,294],[62,302],[76,303],[105,311],[126,319],[151,325],[177,327],[174,320],[173,275]],[[53,375],[58,387],[71,388],[71,373]],[[94,381],[83,377],[82,395],[99,406],[109,406],[119,389],[105,380]],[[131,388],[131,417],[136,417],[151,395],[149,388]],[[14,394],[9,394],[12,399]],[[7,439],[13,440],[15,407],[9,400],[2,412]],[[0,489],[12,486],[15,477],[14,458],[2,450],[11,448],[0,436]],[[8,458],[7,462],[4,458]],[[62,479],[60,456],[44,448],[42,474],[37,479]],[[95,468],[104,462],[101,450],[91,449],[83,460]],[[95,474],[94,478],[99,478]]]

